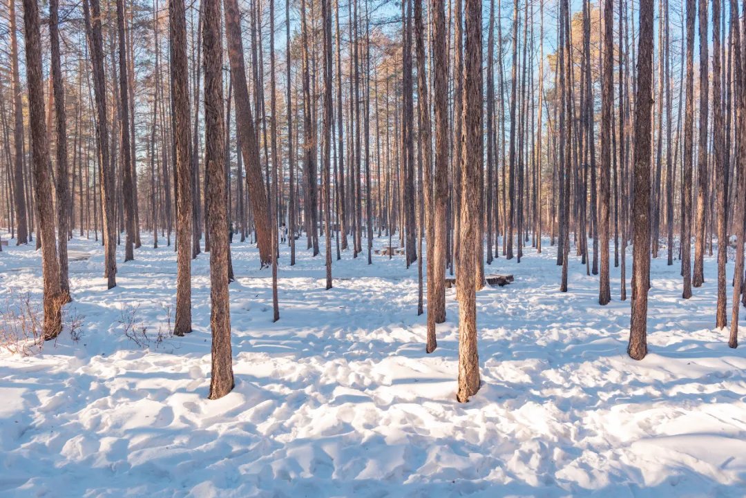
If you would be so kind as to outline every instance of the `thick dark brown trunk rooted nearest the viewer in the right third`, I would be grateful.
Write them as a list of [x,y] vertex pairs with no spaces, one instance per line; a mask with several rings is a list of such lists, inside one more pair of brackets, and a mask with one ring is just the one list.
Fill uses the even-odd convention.
[[635,196],[630,344],[632,359],[648,354],[648,283],[650,282],[651,107],[653,103],[653,0],[640,1],[639,58],[635,105]]

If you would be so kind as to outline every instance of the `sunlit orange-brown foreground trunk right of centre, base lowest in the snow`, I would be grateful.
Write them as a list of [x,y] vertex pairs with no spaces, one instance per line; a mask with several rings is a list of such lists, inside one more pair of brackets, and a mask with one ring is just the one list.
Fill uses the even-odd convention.
[[479,199],[482,168],[482,2],[464,2],[466,51],[464,57],[464,144],[461,205],[461,250],[457,269],[459,301],[459,389],[456,399],[466,403],[480,386],[477,352],[477,254],[481,250]]

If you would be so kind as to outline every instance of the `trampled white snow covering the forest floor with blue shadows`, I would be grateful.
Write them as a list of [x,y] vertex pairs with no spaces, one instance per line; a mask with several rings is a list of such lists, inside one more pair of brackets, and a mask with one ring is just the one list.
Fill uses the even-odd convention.
[[[134,262],[119,251],[107,291],[101,246],[73,239],[93,255],[70,263],[82,338],[0,353],[1,497],[746,496],[746,347],[714,329],[712,258],[691,300],[678,263],[653,261],[642,362],[625,354],[618,268],[602,307],[575,259],[559,291],[548,241],[497,259],[487,271],[515,283],[477,294],[483,386],[459,404],[453,289],[427,355],[404,256],[343,253],[327,291],[322,256],[298,250],[289,267],[283,248],[273,324],[270,272],[234,243],[236,388],[210,401],[209,256],[192,265],[195,331],[159,343],[175,253],[143,242]],[[3,248],[0,302],[41,287],[40,254]],[[150,347],[122,321],[148,327]]]

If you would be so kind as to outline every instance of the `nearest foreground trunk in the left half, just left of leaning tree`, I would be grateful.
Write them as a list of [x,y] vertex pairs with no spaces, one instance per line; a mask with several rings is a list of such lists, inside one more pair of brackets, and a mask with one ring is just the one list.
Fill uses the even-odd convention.
[[[231,3],[234,0],[225,0]],[[210,210],[210,329],[213,332],[210,400],[233,390],[231,309],[228,301],[228,212],[225,205],[225,116],[219,0],[202,2],[207,206]],[[226,21],[228,20],[226,8]]]

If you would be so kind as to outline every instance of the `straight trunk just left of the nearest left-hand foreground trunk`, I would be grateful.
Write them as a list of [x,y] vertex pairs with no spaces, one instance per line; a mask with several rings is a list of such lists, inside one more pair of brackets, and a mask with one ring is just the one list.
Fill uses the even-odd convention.
[[176,187],[176,317],[174,334],[192,332],[192,141],[189,135],[189,76],[186,66],[184,0],[169,0],[171,95]]

